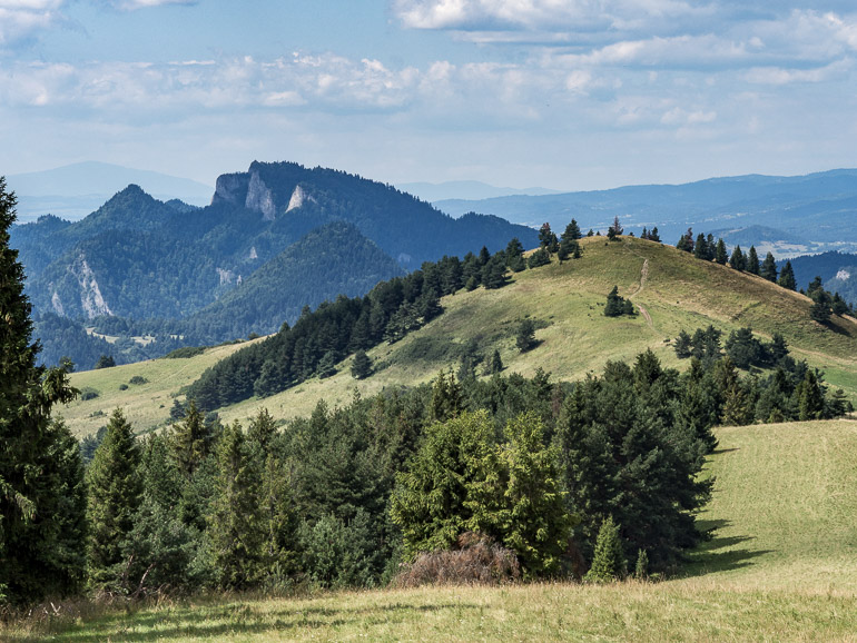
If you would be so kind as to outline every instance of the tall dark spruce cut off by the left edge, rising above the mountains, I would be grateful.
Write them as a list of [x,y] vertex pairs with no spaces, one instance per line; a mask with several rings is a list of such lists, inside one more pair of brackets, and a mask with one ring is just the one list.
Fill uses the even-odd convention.
[[85,544],[79,461],[50,422],[76,392],[65,369],[36,365],[23,267],[9,247],[16,204],[0,177],[0,603],[73,591]]

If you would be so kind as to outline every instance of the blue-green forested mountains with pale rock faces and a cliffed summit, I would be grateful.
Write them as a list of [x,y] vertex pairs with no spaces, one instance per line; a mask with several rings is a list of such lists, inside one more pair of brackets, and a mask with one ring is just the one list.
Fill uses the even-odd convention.
[[[392,186],[288,162],[220,176],[206,207],[131,185],[79,221],[43,216],[10,234],[38,318],[51,327],[57,316],[77,320],[78,338],[83,325],[146,338],[125,360],[141,347],[152,356],[179,340],[270,333],[305,305],[362,295],[444,255],[502,249],[513,237],[538,243],[529,227],[474,214],[454,219]],[[63,353],[48,335],[50,363]],[[93,353],[78,359],[90,365]]]

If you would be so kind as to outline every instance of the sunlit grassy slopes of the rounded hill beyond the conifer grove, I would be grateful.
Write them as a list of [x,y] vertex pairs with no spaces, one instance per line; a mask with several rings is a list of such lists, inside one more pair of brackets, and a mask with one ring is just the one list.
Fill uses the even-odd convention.
[[[387,386],[426,382],[439,369],[454,365],[456,347],[471,340],[489,356],[498,348],[506,372],[532,375],[541,367],[554,379],[599,372],[608,359],[630,360],[646,348],[652,348],[666,364],[677,366],[681,363],[668,340],[681,329],[692,332],[708,324],[721,328],[725,335],[741,326],[752,326],[766,337],[781,333],[797,357],[822,368],[829,383],[857,399],[854,319],[835,317],[831,326],[825,328],[809,318],[810,300],[802,295],[752,275],[700,261],[671,246],[633,237],[622,237],[619,243],[592,237],[583,239],[582,245],[582,258],[520,273],[499,290],[479,288],[445,297],[444,314],[439,318],[394,345],[385,344],[370,352],[378,368],[366,380],[351,377],[348,358],[331,378],[312,379],[266,399],[224,408],[220,416],[225,421],[244,421],[263,406],[275,417],[305,415],[318,399],[331,405],[344,404],[355,389],[367,395]],[[603,305],[613,285],[644,314],[634,318],[604,317]],[[540,326],[540,345],[521,354],[515,348],[514,334],[525,316]],[[76,374],[75,385],[109,390],[109,395],[73,403],[63,415],[76,433],[86,434],[104,421],[89,417],[92,413],[109,413],[122,405],[138,431],[150,428],[166,421],[169,396],[198,377],[214,357],[215,354],[207,353],[188,360],[158,360]],[[156,378],[146,375],[147,369],[160,374],[157,387],[117,389],[119,383],[138,372],[154,383]]]

